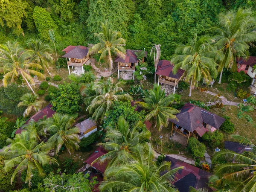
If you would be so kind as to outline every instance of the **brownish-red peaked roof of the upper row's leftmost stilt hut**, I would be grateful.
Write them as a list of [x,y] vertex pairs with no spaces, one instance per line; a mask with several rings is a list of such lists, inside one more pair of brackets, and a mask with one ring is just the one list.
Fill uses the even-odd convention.
[[[69,46],[70,47],[70,46]],[[76,46],[75,48],[72,49],[72,47],[67,47],[67,50],[70,50],[69,52],[67,52],[65,55],[63,55],[62,57],[64,58],[78,58],[78,59],[82,59],[84,58],[87,54],[88,54],[88,48],[84,47],[84,46]],[[65,49],[63,49],[64,51]]]

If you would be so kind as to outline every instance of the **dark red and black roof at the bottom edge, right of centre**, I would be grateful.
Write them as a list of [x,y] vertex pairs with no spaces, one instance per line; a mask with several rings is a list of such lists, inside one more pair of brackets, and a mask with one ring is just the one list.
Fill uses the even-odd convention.
[[[196,189],[207,188],[208,177],[211,175],[209,172],[169,157],[168,155],[164,160],[171,162],[171,169],[184,166],[184,169],[181,169],[176,173],[176,178],[174,180],[174,185],[180,192],[189,192],[189,186],[195,187]],[[210,188],[208,188],[208,190],[212,191]]]

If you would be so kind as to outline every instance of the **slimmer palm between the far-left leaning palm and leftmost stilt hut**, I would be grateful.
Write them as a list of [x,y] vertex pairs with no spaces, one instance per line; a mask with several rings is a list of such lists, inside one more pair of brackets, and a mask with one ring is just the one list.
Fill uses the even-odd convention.
[[37,39],[30,39],[27,41],[29,49],[32,50],[32,58],[31,61],[41,64],[44,70],[47,70],[48,74],[51,75],[49,72],[49,64],[53,63],[52,58],[52,49],[49,45],[44,44],[42,41]]

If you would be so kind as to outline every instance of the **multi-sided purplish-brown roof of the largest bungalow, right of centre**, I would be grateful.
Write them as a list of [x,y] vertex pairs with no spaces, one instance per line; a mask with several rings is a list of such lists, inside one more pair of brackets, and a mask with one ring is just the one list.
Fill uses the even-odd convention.
[[178,121],[175,119],[170,119],[170,121],[180,125],[180,127],[187,131],[193,132],[196,130],[200,137],[208,131],[204,128],[203,122],[218,129],[226,120],[191,103],[186,103],[186,105],[180,109],[180,113],[176,114],[176,117]]

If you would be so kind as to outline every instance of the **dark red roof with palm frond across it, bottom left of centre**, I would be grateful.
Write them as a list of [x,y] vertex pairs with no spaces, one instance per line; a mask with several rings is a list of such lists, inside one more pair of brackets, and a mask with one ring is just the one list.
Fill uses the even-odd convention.
[[[106,170],[106,167],[108,165],[108,162],[104,162],[104,163],[100,163],[100,162],[96,162],[93,163],[94,160],[96,160],[98,157],[101,157],[102,155],[106,154],[107,152],[105,150],[103,150],[101,147],[98,147],[96,149],[96,151],[93,152],[93,154],[90,155],[90,157],[88,157],[87,160],[85,160],[86,163],[90,164],[91,166],[93,166],[95,169],[99,170],[100,172],[104,173]],[[93,163],[93,164],[91,164]]]

